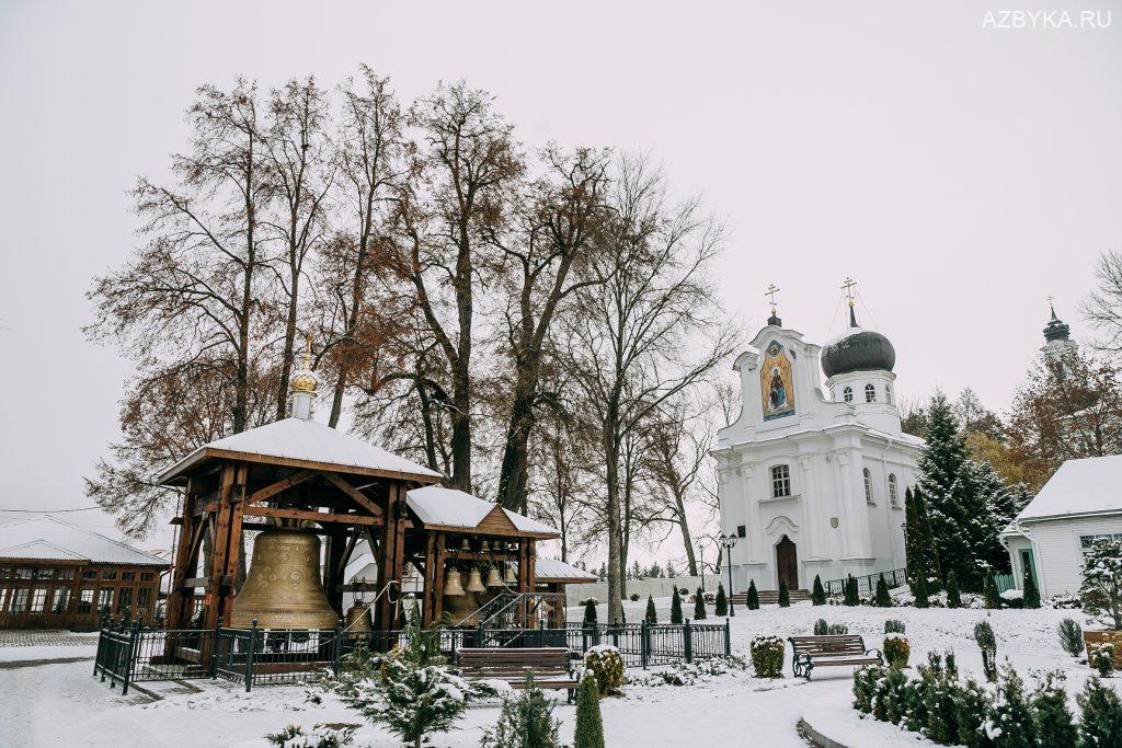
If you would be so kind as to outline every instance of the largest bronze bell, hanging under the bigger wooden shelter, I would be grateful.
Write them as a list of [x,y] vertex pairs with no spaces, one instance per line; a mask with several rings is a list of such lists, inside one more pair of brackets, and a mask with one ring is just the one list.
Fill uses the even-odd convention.
[[230,626],[334,628],[339,620],[320,581],[320,538],[295,527],[275,527],[254,541],[254,561],[233,599]]

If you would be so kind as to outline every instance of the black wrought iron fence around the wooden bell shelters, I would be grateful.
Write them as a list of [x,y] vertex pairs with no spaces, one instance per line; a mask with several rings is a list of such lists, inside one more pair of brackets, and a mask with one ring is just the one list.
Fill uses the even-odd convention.
[[[408,644],[408,631],[347,631],[333,629],[163,630],[134,624],[129,628],[105,626],[98,638],[93,674],[121,683],[121,694],[138,681],[222,678],[245,684],[275,685],[307,681],[316,672],[337,674],[344,657],[362,647],[388,652]],[[465,647],[527,648],[567,647],[572,657],[610,645],[619,649],[629,667],[697,662],[730,654],[728,621],[725,624],[653,625],[599,624],[565,628],[450,629],[439,631],[441,650],[451,662]]]

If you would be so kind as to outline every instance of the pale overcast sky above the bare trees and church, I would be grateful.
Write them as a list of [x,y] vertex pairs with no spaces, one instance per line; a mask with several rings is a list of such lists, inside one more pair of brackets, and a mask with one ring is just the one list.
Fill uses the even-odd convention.
[[403,101],[467,77],[531,144],[650,149],[727,218],[720,281],[749,335],[775,283],[784,323],[821,342],[853,276],[901,396],[971,386],[1003,409],[1046,297],[1086,339],[1095,257],[1122,248],[1122,7],[1018,6],[1113,13],[1003,29],[976,0],[4,0],[0,508],[89,506],[129,367],[83,339],[84,294],[132,251],[126,192],[185,147],[194,89],[238,73],[334,85],[367,63]]

